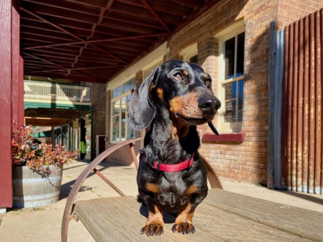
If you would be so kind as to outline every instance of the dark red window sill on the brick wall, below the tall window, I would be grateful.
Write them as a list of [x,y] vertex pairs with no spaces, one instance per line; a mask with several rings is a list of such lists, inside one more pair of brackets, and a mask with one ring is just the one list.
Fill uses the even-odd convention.
[[244,132],[224,133],[220,136],[213,133],[204,133],[202,136],[203,143],[242,143],[245,138]]

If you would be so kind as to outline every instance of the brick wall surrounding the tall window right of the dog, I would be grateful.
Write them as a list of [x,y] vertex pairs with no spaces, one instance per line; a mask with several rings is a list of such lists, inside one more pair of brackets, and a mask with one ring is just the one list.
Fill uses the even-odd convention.
[[[306,2],[306,6],[302,6],[300,2],[303,5]],[[266,183],[270,22],[278,21],[279,27],[286,26],[320,9],[322,2],[323,0],[223,0],[170,38],[170,52],[165,55],[165,61],[182,59],[179,53],[187,46],[197,43],[198,63],[211,75],[212,88],[217,95],[219,40],[214,36],[234,22],[244,21],[244,100],[241,132],[245,133],[245,140],[241,143],[202,142],[200,148],[200,152],[221,177],[247,183]],[[110,114],[110,110],[108,113]],[[110,125],[110,119],[107,123]],[[216,118],[214,124],[217,123]],[[201,137],[203,133],[210,132],[206,125],[199,126],[198,130]],[[122,159],[129,159],[128,152],[121,153],[118,155]]]

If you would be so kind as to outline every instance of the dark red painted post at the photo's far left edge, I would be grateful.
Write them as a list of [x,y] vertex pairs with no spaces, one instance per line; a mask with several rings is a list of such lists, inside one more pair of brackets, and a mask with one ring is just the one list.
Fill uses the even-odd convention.
[[11,54],[12,54],[12,3],[0,1],[0,208],[12,207],[12,170],[11,170]]

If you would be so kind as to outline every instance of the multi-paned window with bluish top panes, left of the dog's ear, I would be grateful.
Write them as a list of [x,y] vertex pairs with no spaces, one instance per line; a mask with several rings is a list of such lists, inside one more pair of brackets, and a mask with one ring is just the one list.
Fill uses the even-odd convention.
[[128,120],[128,100],[131,90],[136,88],[135,78],[112,90],[111,100],[111,141],[121,141],[135,137],[135,130]]

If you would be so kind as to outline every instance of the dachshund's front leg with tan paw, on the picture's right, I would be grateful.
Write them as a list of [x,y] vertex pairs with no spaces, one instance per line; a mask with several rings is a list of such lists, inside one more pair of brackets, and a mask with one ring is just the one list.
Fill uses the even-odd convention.
[[175,233],[181,232],[183,234],[185,233],[194,233],[195,232],[195,227],[193,226],[193,216],[194,216],[194,211],[197,205],[199,205],[204,198],[207,195],[207,187],[205,190],[203,190],[201,193],[198,195],[195,195],[191,201],[187,204],[186,208],[183,209],[178,215],[175,220],[175,224],[172,227],[172,231]]

